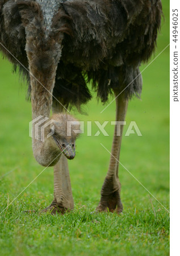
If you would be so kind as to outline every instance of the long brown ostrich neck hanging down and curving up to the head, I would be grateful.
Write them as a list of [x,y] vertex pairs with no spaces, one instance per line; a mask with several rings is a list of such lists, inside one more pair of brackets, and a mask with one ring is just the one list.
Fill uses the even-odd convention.
[[[38,118],[49,118],[52,108],[52,93],[55,86],[57,64],[61,57],[61,40],[48,36],[47,31],[53,15],[56,13],[59,1],[36,1],[41,5],[44,16],[37,17],[38,22],[31,22],[26,26],[26,53],[29,63],[31,79],[31,104],[32,104],[32,150],[34,156],[41,165],[53,166],[59,160],[60,149],[52,137],[47,138],[50,127],[45,121]],[[50,10],[50,2],[53,5]],[[49,20],[50,19],[50,20]],[[40,32],[39,32],[40,31]],[[41,116],[41,117],[40,117]],[[44,133],[43,140],[41,135]]]

